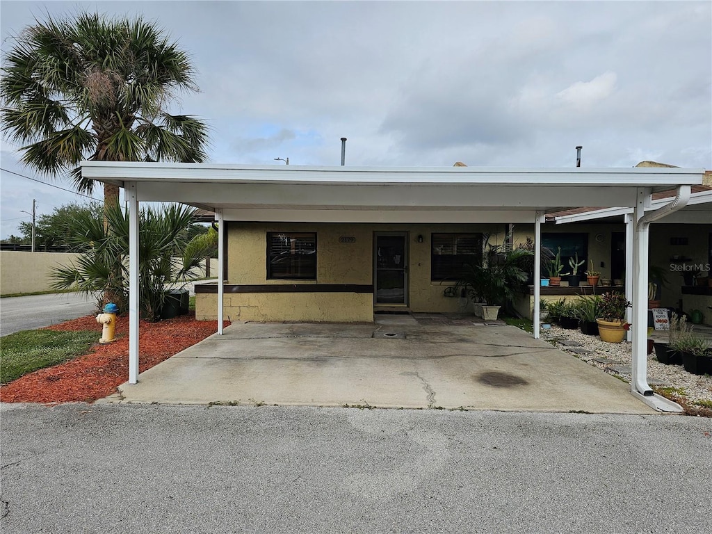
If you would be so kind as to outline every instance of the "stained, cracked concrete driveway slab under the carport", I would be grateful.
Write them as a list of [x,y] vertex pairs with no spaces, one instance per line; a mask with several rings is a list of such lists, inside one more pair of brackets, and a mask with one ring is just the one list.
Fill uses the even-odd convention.
[[499,325],[233,324],[105,402],[656,413],[628,384]]

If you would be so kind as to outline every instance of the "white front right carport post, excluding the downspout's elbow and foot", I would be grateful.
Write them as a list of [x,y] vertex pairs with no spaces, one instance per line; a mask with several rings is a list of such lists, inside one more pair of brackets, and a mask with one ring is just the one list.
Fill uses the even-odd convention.
[[[653,394],[648,385],[648,225],[639,225],[638,221],[645,214],[645,209],[650,205],[650,189],[640,187],[633,211],[633,268],[626,271],[632,275],[633,330],[632,347],[632,380],[631,390],[646,397]],[[627,276],[626,278],[630,278]],[[626,286],[628,281],[626,280]]]

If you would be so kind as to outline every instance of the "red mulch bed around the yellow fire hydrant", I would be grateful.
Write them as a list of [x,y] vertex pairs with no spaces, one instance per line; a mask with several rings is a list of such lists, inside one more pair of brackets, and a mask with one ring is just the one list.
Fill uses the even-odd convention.
[[[117,318],[116,341],[110,345],[98,342],[101,329],[94,315],[48,327],[48,330],[96,330],[97,343],[86,355],[28,373],[0,387],[2,402],[93,402],[116,392],[116,387],[129,376],[128,316]],[[216,321],[195,320],[194,312],[159,323],[140,321],[139,372],[216,332]]]

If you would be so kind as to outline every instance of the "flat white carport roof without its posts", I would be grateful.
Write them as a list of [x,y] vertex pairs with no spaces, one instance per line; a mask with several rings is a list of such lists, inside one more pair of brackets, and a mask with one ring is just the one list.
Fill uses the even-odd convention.
[[136,183],[139,201],[221,209],[224,219],[533,222],[535,211],[634,206],[639,188],[700,184],[702,169],[502,169],[84,162],[85,177]]

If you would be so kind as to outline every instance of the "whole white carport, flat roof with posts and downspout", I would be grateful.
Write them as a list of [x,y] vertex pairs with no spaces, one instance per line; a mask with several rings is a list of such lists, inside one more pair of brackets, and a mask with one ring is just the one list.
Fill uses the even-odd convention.
[[[477,167],[298,167],[82,162],[85,178],[125,188],[129,204],[129,382],[138,381],[138,206],[176,201],[214,211],[219,223],[218,334],[222,334],[225,220],[297,222],[531,223],[540,243],[545,213],[600,206],[633,209],[635,280],[631,391],[657,409],[680,411],[647,384],[648,227],[689,199],[703,169],[486,169]],[[677,189],[672,204],[646,214],[651,195]],[[540,275],[539,247],[535,279]],[[539,286],[535,284],[535,302]],[[534,335],[539,309],[535,306]]]

